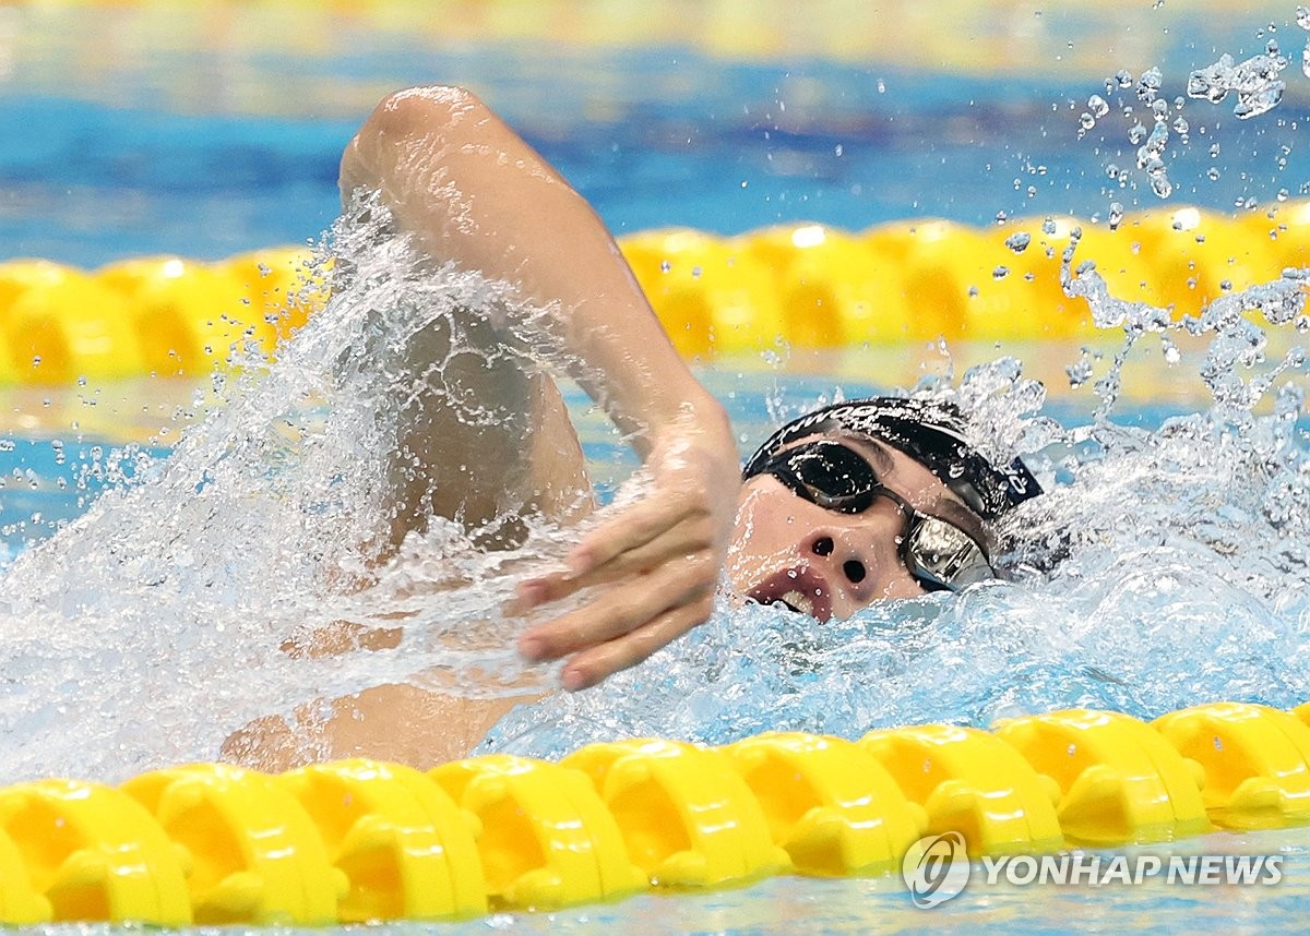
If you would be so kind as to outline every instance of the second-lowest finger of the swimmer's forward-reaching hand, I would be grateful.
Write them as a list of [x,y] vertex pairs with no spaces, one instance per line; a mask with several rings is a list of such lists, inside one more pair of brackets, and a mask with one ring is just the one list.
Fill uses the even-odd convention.
[[616,640],[668,611],[713,597],[717,573],[711,555],[675,559],[650,575],[605,590],[575,611],[533,627],[519,639],[519,651],[529,660],[554,660]]

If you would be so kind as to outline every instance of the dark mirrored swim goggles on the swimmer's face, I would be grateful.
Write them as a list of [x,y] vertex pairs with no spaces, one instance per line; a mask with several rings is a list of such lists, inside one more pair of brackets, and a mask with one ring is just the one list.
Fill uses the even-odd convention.
[[863,513],[878,497],[896,504],[905,517],[900,558],[930,592],[955,592],[996,579],[982,546],[955,524],[916,511],[879,479],[869,461],[842,442],[817,439],[769,456],[751,475],[777,478],[796,496],[837,513]]

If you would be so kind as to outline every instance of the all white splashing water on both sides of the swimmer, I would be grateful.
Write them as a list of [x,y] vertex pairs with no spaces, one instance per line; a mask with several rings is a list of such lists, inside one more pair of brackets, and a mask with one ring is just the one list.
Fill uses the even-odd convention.
[[[418,275],[376,220],[341,225],[333,246],[337,293],[271,372],[252,361],[170,459],[124,453],[118,487],[0,583],[0,782],[114,780],[210,759],[253,717],[380,682],[485,695],[553,686],[552,669],[517,658],[524,622],[499,609],[515,576],[575,533],[529,520],[519,549],[489,552],[435,521],[385,567],[373,562],[390,520],[377,479],[403,401],[456,390],[443,367],[417,381],[407,348],[445,322],[455,338],[439,360],[449,367],[465,347],[456,310],[481,310],[466,327],[520,321],[506,314],[512,300],[477,276]],[[854,737],[1064,706],[1150,716],[1208,698],[1310,698],[1310,456],[1293,380],[1303,357],[1265,361],[1250,317],[1294,330],[1305,276],[1289,271],[1174,321],[1114,297],[1094,263],[1076,264],[1077,250],[1074,237],[1066,292],[1124,334],[1099,378],[1093,355],[1070,370],[1100,401],[1090,424],[1043,415],[1045,387],[1014,359],[958,382],[947,368],[908,390],[958,402],[984,454],[1032,453],[1049,491],[1001,530],[1010,581],[823,626],[724,594],[705,627],[596,690],[516,710],[483,749],[553,755],[622,736],[727,741],[777,728]],[[503,353],[540,367],[557,350],[528,327],[533,310],[520,312],[527,325]],[[1123,368],[1146,335],[1209,342],[1199,365],[1207,412],[1157,431],[1114,422]],[[768,406],[782,422],[841,395]],[[473,427],[498,418],[455,402]],[[398,644],[322,658],[279,649],[338,621],[400,621]]]

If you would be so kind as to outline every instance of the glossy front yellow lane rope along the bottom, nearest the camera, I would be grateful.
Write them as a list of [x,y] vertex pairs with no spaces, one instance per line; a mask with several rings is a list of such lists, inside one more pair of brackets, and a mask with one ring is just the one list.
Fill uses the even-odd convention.
[[979,857],[1310,826],[1307,717],[1310,703],[1213,703],[1150,724],[1070,710],[992,732],[648,738],[426,774],[354,759],[20,783],[0,787],[0,926],[461,919],[893,873],[945,833]]

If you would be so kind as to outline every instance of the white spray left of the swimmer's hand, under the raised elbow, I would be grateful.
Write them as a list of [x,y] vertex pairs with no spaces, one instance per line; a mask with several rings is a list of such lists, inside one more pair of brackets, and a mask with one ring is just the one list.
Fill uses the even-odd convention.
[[[333,298],[276,364],[246,360],[168,459],[100,462],[131,470],[0,580],[0,783],[215,759],[254,717],[384,682],[483,695],[553,685],[552,668],[515,653],[527,624],[500,606],[576,533],[504,503],[472,533],[434,518],[379,563],[397,511],[386,479],[413,480],[397,461],[411,405],[447,397],[473,431],[507,419],[451,374],[495,317],[512,319],[511,339],[476,365],[540,368],[553,353],[533,331],[542,310],[515,306],[504,284],[424,268],[376,206],[356,208],[330,240]],[[417,367],[434,335],[444,353]],[[479,549],[510,517],[523,543]],[[280,649],[341,622],[398,628],[398,645]]]

